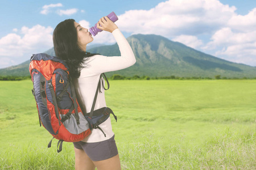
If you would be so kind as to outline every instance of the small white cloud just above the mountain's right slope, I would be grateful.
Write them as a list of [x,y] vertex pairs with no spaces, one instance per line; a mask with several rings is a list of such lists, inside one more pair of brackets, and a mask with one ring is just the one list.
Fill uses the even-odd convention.
[[187,46],[190,46],[191,48],[197,48],[201,45],[203,45],[202,40],[197,39],[196,36],[190,36],[190,35],[181,35],[177,36],[172,41],[181,42]]

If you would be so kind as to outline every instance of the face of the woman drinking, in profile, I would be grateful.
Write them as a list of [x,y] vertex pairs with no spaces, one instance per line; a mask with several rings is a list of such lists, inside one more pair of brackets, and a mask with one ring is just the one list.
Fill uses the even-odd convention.
[[88,29],[81,27],[81,25],[75,22],[76,32],[77,32],[77,44],[81,49],[86,47],[89,42],[93,41],[92,34]]

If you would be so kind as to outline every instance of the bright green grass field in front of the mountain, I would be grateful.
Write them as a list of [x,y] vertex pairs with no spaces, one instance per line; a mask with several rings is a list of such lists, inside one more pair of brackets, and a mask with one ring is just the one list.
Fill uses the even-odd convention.
[[[122,169],[255,169],[256,80],[112,80]],[[0,169],[75,169],[39,127],[32,82],[0,82]]]

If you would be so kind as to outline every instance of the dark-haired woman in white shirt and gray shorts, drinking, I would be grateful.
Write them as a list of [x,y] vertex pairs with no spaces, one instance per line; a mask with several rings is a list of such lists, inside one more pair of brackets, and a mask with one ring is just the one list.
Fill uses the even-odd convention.
[[[86,45],[93,41],[93,37],[88,29],[81,27],[73,19],[59,23],[53,32],[55,54],[69,66],[84,113],[90,112],[101,73],[125,69],[136,62],[133,50],[112,20],[107,16],[102,17],[97,23],[97,28],[113,34],[121,56],[106,57],[86,53]],[[106,107],[104,90],[101,89],[101,92],[97,96],[94,110]],[[88,137],[73,143],[76,169],[121,169],[110,117],[100,128],[106,137],[100,129],[93,129]]]

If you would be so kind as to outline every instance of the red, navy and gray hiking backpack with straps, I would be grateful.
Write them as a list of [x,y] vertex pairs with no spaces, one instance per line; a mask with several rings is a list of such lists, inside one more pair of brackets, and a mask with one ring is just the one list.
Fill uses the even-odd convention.
[[[101,82],[104,87],[104,78],[108,83],[108,88],[104,87],[104,90],[109,89],[109,82],[104,73],[100,76],[90,113],[82,113],[68,66],[62,59],[44,53],[33,54],[29,70],[34,86],[32,94],[36,100],[39,124],[43,125],[53,138],[59,139],[57,152],[62,150],[63,141],[81,141],[92,129],[100,129],[105,135],[98,125],[110,114],[117,120],[110,108],[104,107],[94,111],[97,94],[101,92]],[[52,140],[48,147],[51,147],[51,142]]]

